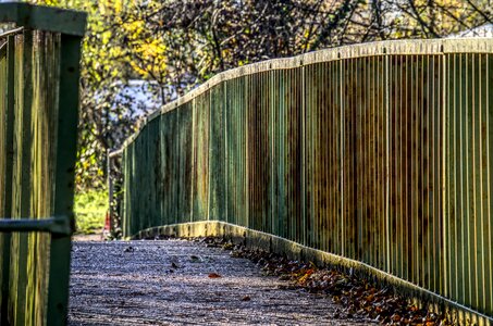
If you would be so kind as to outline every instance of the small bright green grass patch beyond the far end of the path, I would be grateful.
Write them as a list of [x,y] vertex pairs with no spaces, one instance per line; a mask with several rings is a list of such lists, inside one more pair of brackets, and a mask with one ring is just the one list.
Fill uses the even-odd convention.
[[108,192],[89,190],[75,193],[76,234],[99,234],[104,226],[108,212]]

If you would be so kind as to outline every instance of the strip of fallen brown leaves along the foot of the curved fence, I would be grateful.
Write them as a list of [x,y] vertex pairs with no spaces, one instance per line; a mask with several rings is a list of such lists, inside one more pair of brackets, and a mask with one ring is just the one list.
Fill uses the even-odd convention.
[[349,318],[365,316],[384,325],[453,325],[444,313],[419,309],[392,288],[379,287],[354,273],[348,275],[334,268],[320,268],[311,262],[291,261],[272,252],[234,244],[223,238],[205,237],[195,241],[229,250],[232,258],[252,261],[266,276],[287,280],[287,285],[280,286],[283,289],[304,289],[310,293],[326,294],[332,302],[344,308],[342,312]]

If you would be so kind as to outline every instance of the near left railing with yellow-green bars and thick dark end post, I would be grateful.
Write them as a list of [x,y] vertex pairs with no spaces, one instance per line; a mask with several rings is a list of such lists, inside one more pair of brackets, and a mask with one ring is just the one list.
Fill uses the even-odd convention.
[[0,3],[1,325],[66,323],[85,22]]

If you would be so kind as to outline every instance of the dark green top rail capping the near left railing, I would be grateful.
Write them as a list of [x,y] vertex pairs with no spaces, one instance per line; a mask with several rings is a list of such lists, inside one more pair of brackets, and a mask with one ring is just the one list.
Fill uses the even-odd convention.
[[86,13],[73,10],[24,2],[0,3],[0,23],[15,23],[25,28],[84,36],[86,17]]

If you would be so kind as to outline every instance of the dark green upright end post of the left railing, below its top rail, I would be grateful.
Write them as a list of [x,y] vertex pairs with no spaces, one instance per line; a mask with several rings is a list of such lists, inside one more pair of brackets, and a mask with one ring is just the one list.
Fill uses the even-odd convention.
[[[54,215],[67,216],[74,229],[74,166],[78,122],[81,37],[61,36],[58,152],[54,184]],[[50,326],[65,325],[69,303],[71,236],[52,235],[48,283]]]

